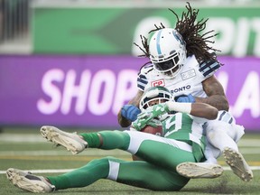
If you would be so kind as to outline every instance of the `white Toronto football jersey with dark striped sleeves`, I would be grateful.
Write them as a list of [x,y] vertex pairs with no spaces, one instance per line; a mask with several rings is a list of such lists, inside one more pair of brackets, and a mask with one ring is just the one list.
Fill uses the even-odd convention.
[[218,61],[208,61],[199,63],[195,56],[187,58],[180,74],[175,78],[169,78],[166,75],[153,70],[153,65],[144,66],[137,79],[137,86],[144,91],[147,88],[162,86],[168,88],[174,97],[187,96],[191,94],[194,97],[207,97],[202,87],[202,81],[212,76],[220,67]]

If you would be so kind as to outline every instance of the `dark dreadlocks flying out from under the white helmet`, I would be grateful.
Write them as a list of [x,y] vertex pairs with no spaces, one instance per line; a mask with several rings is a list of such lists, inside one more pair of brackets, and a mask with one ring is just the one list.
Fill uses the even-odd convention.
[[[201,19],[199,22],[197,22],[196,19],[200,10],[192,9],[189,2],[187,2],[187,4],[188,5],[185,6],[187,8],[187,12],[182,12],[181,18],[179,18],[178,14],[176,14],[172,9],[169,8],[169,10],[172,12],[172,14],[176,16],[177,19],[175,30],[181,34],[183,40],[186,42],[187,56],[195,55],[196,59],[199,62],[210,61],[210,60],[218,61],[215,52],[219,50],[209,47],[207,45],[207,43],[214,43],[209,41],[209,39],[217,36],[218,33],[212,34],[214,30],[211,30],[209,32],[205,32],[204,34],[200,35],[200,32],[205,30],[206,23],[208,22],[209,18],[206,20]],[[159,26],[157,26],[156,24],[154,26],[155,29],[153,29],[149,33],[156,32],[165,28],[163,23],[160,23]],[[143,35],[141,35],[140,37],[144,49],[141,48],[138,44],[134,43],[135,46],[137,46],[141,51],[144,52],[144,54],[139,55],[139,57],[149,58],[150,51],[149,51],[149,45],[147,43],[147,38],[145,38]],[[151,61],[148,61],[144,65],[148,63],[151,63]]]

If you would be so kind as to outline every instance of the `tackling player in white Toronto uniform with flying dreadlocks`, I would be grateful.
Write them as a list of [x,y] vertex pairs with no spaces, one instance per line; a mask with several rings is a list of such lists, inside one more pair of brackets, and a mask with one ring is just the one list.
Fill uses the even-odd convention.
[[[118,123],[123,127],[135,121],[140,113],[138,104],[146,88],[163,86],[171,90],[177,102],[202,102],[218,108],[218,118],[205,123],[207,135],[206,158],[204,163],[182,163],[179,173],[190,178],[215,178],[217,158],[224,154],[232,171],[243,181],[245,174],[253,172],[244,157],[238,152],[237,141],[244,135],[244,127],[236,125],[235,118],[228,113],[228,99],[214,73],[221,67],[216,55],[218,51],[207,45],[210,32],[200,35],[207,20],[196,23],[199,11],[188,6],[188,13],[183,13],[181,20],[177,16],[175,29],[156,26],[153,36],[147,44],[143,37],[144,56],[149,57],[151,64],[140,70],[137,78],[138,93],[122,107],[118,113]],[[205,38],[205,35],[208,37]],[[214,34],[213,36],[215,36]],[[226,148],[224,150],[224,148]],[[227,149],[228,148],[228,149]],[[207,174],[206,174],[207,173]]]

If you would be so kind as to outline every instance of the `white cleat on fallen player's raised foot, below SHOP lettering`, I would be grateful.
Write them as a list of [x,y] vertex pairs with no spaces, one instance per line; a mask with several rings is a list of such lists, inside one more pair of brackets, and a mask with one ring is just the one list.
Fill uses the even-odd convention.
[[88,143],[76,133],[63,132],[55,126],[42,126],[40,132],[48,141],[64,146],[73,154],[82,152],[88,146]]

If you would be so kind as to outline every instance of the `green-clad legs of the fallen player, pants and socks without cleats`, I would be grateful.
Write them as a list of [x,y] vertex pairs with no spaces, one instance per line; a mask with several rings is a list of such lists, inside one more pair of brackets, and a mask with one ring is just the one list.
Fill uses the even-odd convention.
[[[91,134],[84,135],[87,142]],[[195,162],[189,144],[135,131],[102,131],[98,134],[102,137],[101,149],[128,151],[144,162],[127,162],[113,157],[93,160],[72,172],[48,177],[57,190],[85,187],[99,179],[150,190],[181,190],[189,181],[176,172],[179,163]]]

